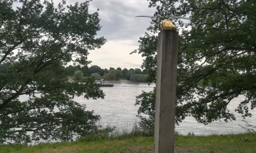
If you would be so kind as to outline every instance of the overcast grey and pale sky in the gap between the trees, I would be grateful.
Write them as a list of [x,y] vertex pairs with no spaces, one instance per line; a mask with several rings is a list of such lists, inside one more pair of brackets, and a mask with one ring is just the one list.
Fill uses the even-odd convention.
[[100,49],[90,52],[90,65],[101,68],[139,68],[142,64],[141,56],[129,53],[138,48],[139,37],[146,32],[150,19],[135,16],[153,15],[155,9],[148,8],[146,0],[94,0],[90,10],[96,11],[97,8],[100,9],[102,25],[98,35],[104,36],[107,42]]

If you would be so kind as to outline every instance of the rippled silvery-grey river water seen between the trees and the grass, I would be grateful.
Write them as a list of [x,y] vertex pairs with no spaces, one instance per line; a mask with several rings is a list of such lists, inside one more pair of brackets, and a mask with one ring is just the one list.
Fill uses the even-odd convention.
[[[133,126],[139,119],[136,117],[139,106],[135,106],[136,96],[142,91],[152,91],[154,84],[148,86],[146,83],[130,83],[130,82],[114,82],[114,87],[101,87],[105,93],[104,99],[84,99],[83,97],[75,97],[75,101],[80,104],[86,104],[88,110],[94,110],[95,114],[101,116],[98,124],[102,126],[116,126],[119,131],[131,131]],[[228,105],[231,112],[243,100],[243,96],[234,98]],[[247,118],[246,121],[256,125],[256,112],[252,110],[253,116]],[[239,126],[245,126],[241,115],[236,114],[236,121],[215,121],[208,125],[198,123],[193,117],[187,117],[179,126],[176,126],[176,132],[187,135],[194,133],[195,135],[212,135],[212,134],[237,134],[244,133],[245,130]]]

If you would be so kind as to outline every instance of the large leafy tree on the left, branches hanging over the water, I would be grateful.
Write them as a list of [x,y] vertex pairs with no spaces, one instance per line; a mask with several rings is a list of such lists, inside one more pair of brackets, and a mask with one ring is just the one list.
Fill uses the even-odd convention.
[[95,38],[98,12],[89,13],[90,1],[16,2],[0,1],[0,143],[69,141],[94,132],[99,116],[72,99],[103,92],[90,78],[70,82],[63,65],[87,65],[89,50],[105,42]]

